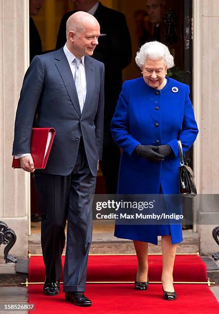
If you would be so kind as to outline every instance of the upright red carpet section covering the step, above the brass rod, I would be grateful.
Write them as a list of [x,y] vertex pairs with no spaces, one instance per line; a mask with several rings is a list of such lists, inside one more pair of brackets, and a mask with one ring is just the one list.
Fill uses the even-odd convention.
[[[62,257],[64,266],[64,256]],[[150,255],[149,280],[160,281],[162,256]],[[136,256],[89,256],[87,281],[134,281],[137,271]],[[197,255],[177,255],[173,272],[174,281],[206,281],[206,264]],[[63,279],[63,278],[62,278]],[[44,282],[43,257],[31,257],[29,282]]]

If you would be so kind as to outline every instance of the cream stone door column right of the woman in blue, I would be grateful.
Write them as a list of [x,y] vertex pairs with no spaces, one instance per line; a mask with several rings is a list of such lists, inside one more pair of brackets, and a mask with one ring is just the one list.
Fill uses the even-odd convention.
[[[193,0],[194,55],[193,86],[194,108],[199,128],[194,145],[194,170],[199,194],[219,194],[218,134],[219,134],[219,2]],[[212,230],[219,225],[217,198],[195,200],[195,212],[209,225],[197,225],[200,252],[211,254],[219,250],[212,238]],[[211,222],[210,222],[211,223]],[[213,225],[213,223],[215,223]]]

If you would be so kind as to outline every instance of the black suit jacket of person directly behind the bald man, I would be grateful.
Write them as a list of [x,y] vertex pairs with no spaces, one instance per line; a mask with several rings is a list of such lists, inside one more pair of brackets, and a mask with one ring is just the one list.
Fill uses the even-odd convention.
[[[66,42],[66,22],[75,11],[62,17],[59,28],[57,47]],[[104,109],[104,143],[112,142],[111,120],[122,88],[122,69],[132,60],[132,45],[125,16],[115,10],[99,4],[94,16],[100,24],[101,36],[94,50],[93,57],[105,65],[105,109]]]

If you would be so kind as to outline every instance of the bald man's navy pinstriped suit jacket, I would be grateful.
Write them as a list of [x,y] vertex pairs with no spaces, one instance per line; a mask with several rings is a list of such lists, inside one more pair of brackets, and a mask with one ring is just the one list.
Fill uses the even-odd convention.
[[53,127],[57,131],[43,171],[70,174],[82,135],[90,171],[97,175],[103,141],[104,65],[85,56],[85,70],[87,94],[81,113],[63,48],[33,58],[24,77],[17,107],[12,154],[30,152],[31,130],[37,110],[35,127]]

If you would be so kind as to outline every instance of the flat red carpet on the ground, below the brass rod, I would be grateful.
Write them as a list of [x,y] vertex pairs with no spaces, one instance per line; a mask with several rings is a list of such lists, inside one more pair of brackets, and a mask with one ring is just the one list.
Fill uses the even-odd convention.
[[57,297],[46,297],[42,293],[42,285],[32,285],[29,286],[29,303],[36,304],[34,312],[41,313],[218,314],[218,302],[208,286],[177,284],[175,290],[177,299],[165,301],[161,285],[149,284],[147,291],[137,291],[131,284],[87,285],[86,295],[93,301],[93,305],[82,308],[65,302],[63,292]]

